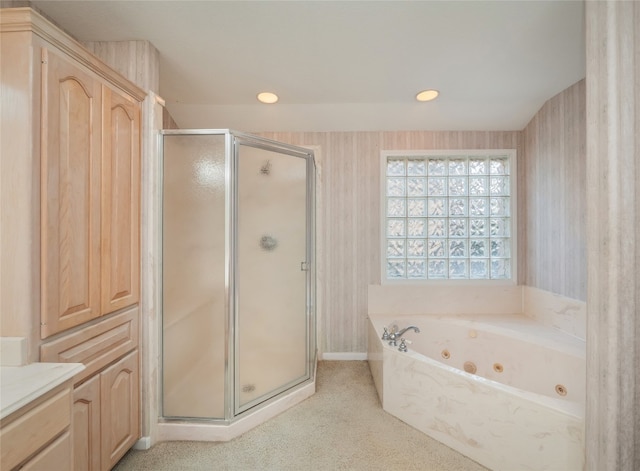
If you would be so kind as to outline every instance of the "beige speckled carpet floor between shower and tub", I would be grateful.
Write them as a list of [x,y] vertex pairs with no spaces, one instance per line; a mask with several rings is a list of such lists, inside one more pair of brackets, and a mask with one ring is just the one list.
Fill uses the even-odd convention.
[[320,362],[316,378],[315,395],[234,440],[159,443],[114,469],[486,470],[384,412],[366,361]]

